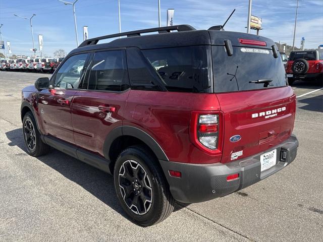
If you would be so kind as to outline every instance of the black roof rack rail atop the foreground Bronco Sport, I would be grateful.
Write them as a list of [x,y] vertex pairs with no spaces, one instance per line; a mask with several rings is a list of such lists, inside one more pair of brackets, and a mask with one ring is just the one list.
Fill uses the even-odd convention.
[[167,32],[171,32],[172,30],[177,30],[178,32],[181,32],[181,31],[190,31],[190,30],[196,30],[196,29],[188,24],[151,28],[151,29],[141,29],[141,30],[123,32],[118,34],[110,34],[110,35],[100,36],[97,38],[87,39],[87,40],[84,40],[78,47],[97,44],[97,42],[102,39],[110,39],[110,38],[115,38],[120,36],[127,36],[127,37],[140,36],[140,34],[142,33],[150,33],[150,32],[167,33]]

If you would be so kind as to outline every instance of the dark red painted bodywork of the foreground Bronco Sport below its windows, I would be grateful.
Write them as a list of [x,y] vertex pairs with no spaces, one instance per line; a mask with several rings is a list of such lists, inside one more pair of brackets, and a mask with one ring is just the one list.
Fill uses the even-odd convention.
[[[31,97],[35,92],[34,86],[23,90],[43,134],[103,156],[109,132],[122,125],[133,126],[149,134],[170,161],[185,163],[227,163],[237,151],[243,150],[238,158],[243,159],[270,149],[290,137],[296,109],[295,94],[289,86],[219,94],[50,89],[38,92],[38,103]],[[66,101],[58,103],[58,99]],[[252,113],[281,107],[286,110],[276,116],[252,118]],[[219,123],[198,128],[201,114],[218,114]],[[196,136],[198,129],[218,130],[216,150],[201,145]],[[241,140],[230,142],[234,135],[240,135]]]

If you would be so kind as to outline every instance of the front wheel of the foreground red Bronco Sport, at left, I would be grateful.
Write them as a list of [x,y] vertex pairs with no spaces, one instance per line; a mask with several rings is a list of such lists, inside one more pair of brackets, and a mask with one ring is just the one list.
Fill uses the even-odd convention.
[[22,134],[27,153],[35,157],[47,154],[50,151],[50,146],[42,142],[32,112],[25,114],[22,124]]

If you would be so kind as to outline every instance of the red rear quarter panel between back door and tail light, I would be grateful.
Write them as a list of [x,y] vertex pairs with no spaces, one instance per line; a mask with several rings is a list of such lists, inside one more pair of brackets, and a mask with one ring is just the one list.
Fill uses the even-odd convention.
[[216,94],[131,90],[123,125],[148,133],[170,161],[220,162],[221,157],[206,154],[190,141],[189,125],[194,110],[220,110]]

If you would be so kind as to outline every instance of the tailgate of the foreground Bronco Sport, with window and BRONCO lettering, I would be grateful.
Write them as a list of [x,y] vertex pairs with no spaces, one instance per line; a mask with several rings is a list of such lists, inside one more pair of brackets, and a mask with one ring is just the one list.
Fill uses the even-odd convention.
[[[226,32],[212,46],[214,92],[224,113],[223,163],[263,153],[287,140],[295,118],[295,94],[286,85],[279,52],[274,57],[275,43],[241,33],[241,39],[260,41],[242,44],[238,34]],[[231,56],[225,39],[232,42]]]

